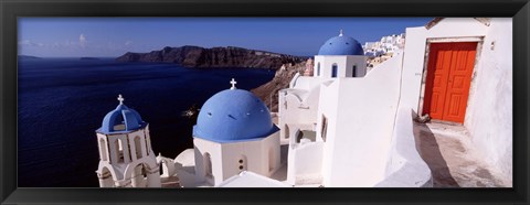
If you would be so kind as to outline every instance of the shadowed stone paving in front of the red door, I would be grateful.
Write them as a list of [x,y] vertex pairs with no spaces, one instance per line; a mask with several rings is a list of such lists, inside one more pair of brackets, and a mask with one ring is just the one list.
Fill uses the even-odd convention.
[[462,125],[414,122],[420,155],[431,168],[434,187],[511,187],[495,168],[480,160]]

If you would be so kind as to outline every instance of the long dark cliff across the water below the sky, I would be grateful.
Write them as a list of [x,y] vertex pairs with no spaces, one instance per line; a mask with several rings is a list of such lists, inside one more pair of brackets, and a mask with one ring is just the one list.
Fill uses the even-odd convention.
[[307,60],[293,55],[277,54],[242,47],[199,46],[163,47],[149,53],[126,53],[116,58],[119,62],[174,63],[184,67],[251,67],[277,69],[283,64],[296,64]]

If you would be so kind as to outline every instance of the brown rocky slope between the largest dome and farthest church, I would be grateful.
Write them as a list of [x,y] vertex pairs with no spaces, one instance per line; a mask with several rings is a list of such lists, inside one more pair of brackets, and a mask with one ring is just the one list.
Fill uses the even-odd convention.
[[[259,97],[268,108],[272,108],[271,111],[277,112],[278,111],[278,91],[284,88],[289,87],[290,79],[299,73],[300,75],[304,74],[306,69],[307,62],[300,62],[294,65],[285,64],[276,71],[276,75],[274,76],[273,80],[252,89],[251,91]],[[273,106],[271,107],[271,104]]]

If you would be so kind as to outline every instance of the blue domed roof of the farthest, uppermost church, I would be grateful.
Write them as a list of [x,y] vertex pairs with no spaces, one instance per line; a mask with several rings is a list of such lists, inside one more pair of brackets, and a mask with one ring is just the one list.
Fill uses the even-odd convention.
[[364,55],[361,44],[353,37],[342,35],[335,36],[326,41],[318,55]]

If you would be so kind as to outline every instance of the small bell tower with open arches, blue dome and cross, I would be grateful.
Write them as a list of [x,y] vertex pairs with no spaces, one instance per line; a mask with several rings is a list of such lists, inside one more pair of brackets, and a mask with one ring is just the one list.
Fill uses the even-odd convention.
[[151,149],[149,123],[140,115],[119,105],[103,119],[96,130],[100,187],[160,187],[159,165]]

